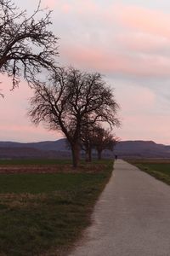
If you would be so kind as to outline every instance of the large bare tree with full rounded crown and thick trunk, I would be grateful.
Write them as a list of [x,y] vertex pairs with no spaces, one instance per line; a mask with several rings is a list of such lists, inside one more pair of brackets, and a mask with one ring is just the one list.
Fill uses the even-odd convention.
[[99,122],[112,127],[118,123],[118,105],[99,73],[60,68],[50,84],[37,83],[30,103],[28,115],[34,124],[42,122],[48,129],[65,134],[71,144],[74,167],[79,160],[82,127]]

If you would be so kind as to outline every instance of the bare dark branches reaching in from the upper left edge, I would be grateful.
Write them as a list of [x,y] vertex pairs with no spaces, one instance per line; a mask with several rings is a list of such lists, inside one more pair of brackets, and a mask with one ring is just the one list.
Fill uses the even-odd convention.
[[12,0],[0,0],[0,73],[12,78],[13,87],[20,76],[34,83],[42,68],[54,69],[58,38],[48,30],[51,11],[41,9],[40,3],[27,16]]

